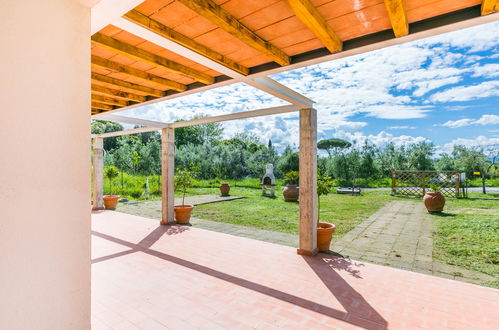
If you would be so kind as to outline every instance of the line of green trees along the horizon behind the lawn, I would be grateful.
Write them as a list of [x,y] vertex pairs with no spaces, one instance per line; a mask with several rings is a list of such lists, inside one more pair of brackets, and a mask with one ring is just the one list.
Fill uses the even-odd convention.
[[[94,121],[92,133],[122,130],[117,123]],[[250,134],[222,138],[220,124],[207,124],[175,129],[175,167],[197,168],[198,179],[258,178],[265,165],[274,164],[275,175],[282,178],[299,169],[299,153],[292,147],[278,152],[271,141],[261,141]],[[486,172],[490,166],[487,155],[479,148],[455,146],[451,154],[435,156],[432,143],[378,148],[366,143],[354,145],[339,139],[323,140],[319,147],[326,153],[318,158],[318,167],[337,179],[350,184],[354,179],[379,179],[391,176],[392,170],[444,170]],[[116,166],[122,173],[151,176],[161,173],[161,139],[158,132],[141,133],[104,140],[105,166]]]

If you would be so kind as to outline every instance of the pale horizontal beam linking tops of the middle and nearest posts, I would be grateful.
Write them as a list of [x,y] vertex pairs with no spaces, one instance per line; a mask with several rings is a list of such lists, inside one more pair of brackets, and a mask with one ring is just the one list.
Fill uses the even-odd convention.
[[285,106],[281,106],[281,107],[273,107],[273,108],[267,108],[267,109],[241,111],[241,112],[231,113],[228,115],[177,121],[177,122],[171,123],[169,126],[173,127],[173,128],[178,128],[178,127],[187,127],[187,126],[194,126],[194,125],[204,125],[204,124],[219,123],[222,121],[229,121],[229,120],[236,120],[236,119],[245,119],[245,118],[254,118],[254,117],[261,117],[261,116],[277,115],[280,113],[298,111],[299,109],[300,108],[296,105],[285,105]]

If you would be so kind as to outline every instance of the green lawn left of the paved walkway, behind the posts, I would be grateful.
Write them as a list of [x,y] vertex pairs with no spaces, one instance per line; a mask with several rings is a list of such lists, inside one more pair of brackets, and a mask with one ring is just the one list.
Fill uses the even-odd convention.
[[[214,188],[189,189],[190,195],[217,192],[218,189]],[[299,205],[284,202],[279,188],[276,188],[275,199],[261,196],[259,189],[233,187],[230,193],[246,198],[230,203],[199,205],[194,209],[193,216],[283,233],[298,233]],[[339,238],[392,199],[386,192],[366,192],[362,196],[331,193],[321,198],[320,218],[321,221],[336,225],[335,237]]]

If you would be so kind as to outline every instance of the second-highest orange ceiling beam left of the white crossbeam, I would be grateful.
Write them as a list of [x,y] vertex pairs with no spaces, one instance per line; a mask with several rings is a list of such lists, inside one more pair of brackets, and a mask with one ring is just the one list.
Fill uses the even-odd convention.
[[139,78],[148,82],[153,82],[161,86],[165,86],[169,89],[173,89],[178,92],[183,92],[187,89],[187,86],[180,84],[176,81],[170,80],[170,79],[165,79],[156,75],[153,75],[151,73],[147,73],[135,68],[132,68],[131,66],[124,65],[118,62],[114,62],[111,60],[106,60],[105,58],[98,57],[95,55],[92,55],[92,65],[106,69],[106,70],[112,70],[115,72],[123,73],[126,74],[127,76],[134,77],[134,78]]

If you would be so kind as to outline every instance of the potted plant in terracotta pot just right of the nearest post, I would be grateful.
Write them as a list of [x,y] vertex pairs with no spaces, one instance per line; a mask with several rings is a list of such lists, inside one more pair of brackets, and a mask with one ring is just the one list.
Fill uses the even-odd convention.
[[325,196],[331,192],[333,188],[333,179],[319,171],[317,175],[317,248],[321,252],[329,251],[333,233],[336,226],[332,223],[320,222],[321,211],[321,196]]

